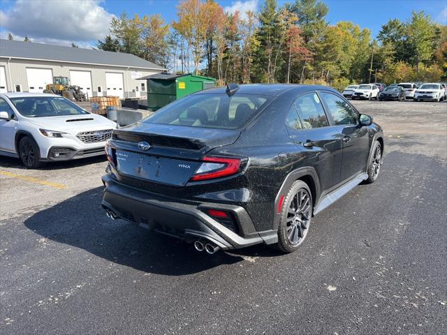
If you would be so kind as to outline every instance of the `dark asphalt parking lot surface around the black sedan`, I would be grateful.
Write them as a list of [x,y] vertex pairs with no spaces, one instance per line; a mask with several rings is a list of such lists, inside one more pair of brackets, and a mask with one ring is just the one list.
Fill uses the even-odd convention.
[[0,334],[446,334],[447,102],[353,103],[384,128],[381,176],[290,255],[110,221],[104,158],[0,157]]

